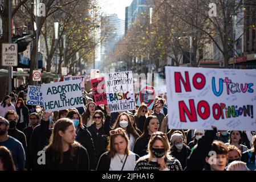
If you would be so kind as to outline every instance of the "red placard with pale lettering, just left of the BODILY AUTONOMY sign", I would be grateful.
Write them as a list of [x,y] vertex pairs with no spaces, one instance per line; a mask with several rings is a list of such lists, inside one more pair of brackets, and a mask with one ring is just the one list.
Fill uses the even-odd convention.
[[104,77],[91,80],[92,90],[94,91],[94,101],[96,105],[107,104],[107,95],[105,92]]

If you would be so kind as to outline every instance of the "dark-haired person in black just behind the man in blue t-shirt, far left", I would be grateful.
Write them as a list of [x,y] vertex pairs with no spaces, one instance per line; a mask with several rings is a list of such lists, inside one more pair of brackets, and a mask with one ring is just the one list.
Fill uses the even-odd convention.
[[16,128],[16,125],[17,125],[17,122],[18,122],[18,119],[19,119],[18,114],[13,110],[9,110],[5,114],[5,119],[7,119],[10,123],[9,130],[8,130],[8,135],[10,135],[11,137],[19,140],[19,142],[22,143],[22,146],[25,150],[25,154],[27,156],[26,135],[22,131],[19,131]]

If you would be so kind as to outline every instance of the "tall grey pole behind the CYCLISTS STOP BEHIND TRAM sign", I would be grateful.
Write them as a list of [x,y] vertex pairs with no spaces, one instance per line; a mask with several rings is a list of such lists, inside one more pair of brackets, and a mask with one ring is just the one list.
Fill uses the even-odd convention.
[[[9,19],[8,19],[8,26],[9,26],[9,43],[12,43],[11,40],[11,0],[8,1],[8,6],[9,6]],[[11,89],[12,89],[12,81],[11,81],[11,77],[13,76],[13,67],[8,67],[8,94],[11,93]]]

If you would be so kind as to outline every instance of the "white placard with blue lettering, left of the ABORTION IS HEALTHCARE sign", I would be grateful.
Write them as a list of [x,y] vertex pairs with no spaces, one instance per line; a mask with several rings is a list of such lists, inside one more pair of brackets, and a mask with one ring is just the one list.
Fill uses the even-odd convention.
[[40,86],[29,85],[27,88],[26,105],[43,106],[43,97]]

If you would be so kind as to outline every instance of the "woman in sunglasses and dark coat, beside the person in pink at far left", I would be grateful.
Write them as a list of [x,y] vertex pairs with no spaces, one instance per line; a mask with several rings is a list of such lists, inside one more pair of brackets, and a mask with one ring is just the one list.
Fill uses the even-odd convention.
[[15,109],[19,116],[17,129],[22,131],[23,129],[25,129],[25,127],[27,127],[27,123],[29,123],[29,109],[25,105],[25,102],[22,98],[17,99]]

